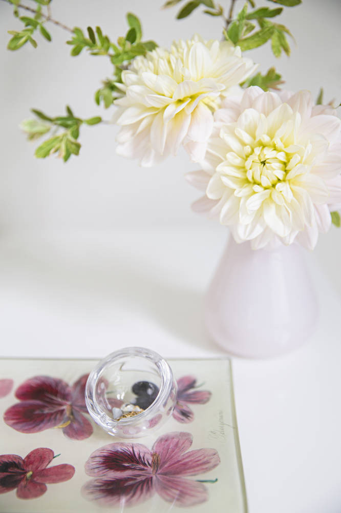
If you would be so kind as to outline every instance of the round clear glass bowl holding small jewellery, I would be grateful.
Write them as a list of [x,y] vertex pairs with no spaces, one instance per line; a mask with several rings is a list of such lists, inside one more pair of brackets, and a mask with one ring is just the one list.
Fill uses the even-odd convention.
[[86,404],[94,421],[110,435],[149,435],[172,415],[176,382],[155,351],[127,347],[109,354],[90,373]]

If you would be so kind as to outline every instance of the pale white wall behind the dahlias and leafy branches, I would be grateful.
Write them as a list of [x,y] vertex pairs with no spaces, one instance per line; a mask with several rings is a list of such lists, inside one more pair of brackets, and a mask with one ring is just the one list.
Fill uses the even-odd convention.
[[[203,15],[198,9],[183,21],[176,21],[179,8],[161,9],[162,0],[54,0],[53,17],[67,25],[100,25],[113,40],[124,34],[125,12],[142,20],[145,38],[169,46],[174,38],[200,32],[206,38],[220,38],[221,20]],[[228,4],[227,0],[221,3]],[[258,5],[274,7],[264,0]],[[237,2],[237,9],[243,2]],[[341,56],[339,53],[340,0],[304,0],[300,7],[286,8],[281,23],[295,36],[292,56],[276,59],[269,45],[248,52],[261,70],[275,65],[289,89],[310,89],[314,97],[320,86],[325,98],[341,101]],[[280,22],[280,18],[278,21]],[[36,143],[28,143],[18,124],[30,116],[31,107],[60,115],[70,104],[81,117],[103,115],[113,110],[98,108],[94,91],[100,80],[110,76],[106,57],[81,54],[70,56],[65,44],[67,32],[49,25],[53,44],[37,35],[38,48],[30,45],[16,52],[6,50],[7,30],[21,24],[12,8],[0,2],[0,227],[22,229],[106,229],[168,225],[209,226],[189,205],[198,197],[183,179],[190,164],[182,153],[153,169],[115,154],[114,126],[86,127],[81,133],[79,157],[67,164],[52,157],[36,160]],[[208,228],[209,229],[209,228]],[[333,236],[337,236],[334,234]],[[341,236],[341,233],[339,234]]]

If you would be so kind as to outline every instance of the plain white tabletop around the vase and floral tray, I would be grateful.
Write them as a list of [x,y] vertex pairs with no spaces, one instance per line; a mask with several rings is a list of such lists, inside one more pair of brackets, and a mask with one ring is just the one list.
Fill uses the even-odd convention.
[[[99,358],[128,345],[219,356],[201,308],[225,236],[213,225],[3,234],[2,356]],[[278,359],[232,359],[250,513],[341,511],[341,281],[330,241],[308,255],[321,299],[309,343]]]

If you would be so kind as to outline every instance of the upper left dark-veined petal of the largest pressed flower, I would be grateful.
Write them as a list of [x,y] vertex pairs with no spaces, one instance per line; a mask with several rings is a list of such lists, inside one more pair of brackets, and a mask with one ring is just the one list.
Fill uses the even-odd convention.
[[142,444],[116,442],[95,450],[85,465],[88,476],[116,479],[138,477],[151,468],[151,451]]

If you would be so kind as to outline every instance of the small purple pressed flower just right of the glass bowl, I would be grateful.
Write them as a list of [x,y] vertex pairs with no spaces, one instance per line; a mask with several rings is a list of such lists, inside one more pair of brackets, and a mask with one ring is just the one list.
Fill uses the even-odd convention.
[[197,387],[197,380],[193,376],[184,376],[177,380],[177,402],[173,410],[173,417],[183,424],[194,420],[193,411],[189,404],[205,404],[211,397],[208,390],[193,390]]

